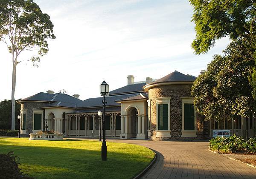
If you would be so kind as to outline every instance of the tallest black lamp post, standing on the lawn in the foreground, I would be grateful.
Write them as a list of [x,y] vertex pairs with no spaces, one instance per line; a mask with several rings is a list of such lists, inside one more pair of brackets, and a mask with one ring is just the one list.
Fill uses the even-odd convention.
[[100,94],[103,96],[103,142],[102,142],[102,160],[107,161],[107,145],[106,145],[106,121],[105,121],[105,115],[106,115],[106,95],[109,93],[108,84],[103,81],[101,85],[99,85]]

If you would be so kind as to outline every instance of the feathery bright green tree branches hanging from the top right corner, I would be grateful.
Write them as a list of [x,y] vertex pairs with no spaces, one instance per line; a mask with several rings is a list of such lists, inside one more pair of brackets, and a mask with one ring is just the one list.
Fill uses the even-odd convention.
[[243,39],[253,53],[256,47],[255,0],[189,0],[194,7],[192,21],[196,54],[206,53],[221,37]]

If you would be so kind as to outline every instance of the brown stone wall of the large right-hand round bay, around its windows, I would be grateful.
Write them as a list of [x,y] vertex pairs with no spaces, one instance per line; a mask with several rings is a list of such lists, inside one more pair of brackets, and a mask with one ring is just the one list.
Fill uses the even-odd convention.
[[[204,116],[197,113],[197,137],[181,137],[182,130],[182,103],[180,97],[191,96],[192,85],[161,85],[152,87],[148,91],[148,98],[151,99],[151,139],[154,140],[190,140],[202,139],[209,136],[209,122],[204,122]],[[155,137],[157,128],[157,107],[156,99],[161,97],[171,97],[170,118],[171,137]]]

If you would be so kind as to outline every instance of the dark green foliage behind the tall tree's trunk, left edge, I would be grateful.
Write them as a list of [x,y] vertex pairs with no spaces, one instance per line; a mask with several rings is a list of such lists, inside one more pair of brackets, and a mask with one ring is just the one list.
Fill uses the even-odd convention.
[[[20,115],[20,104],[15,102],[15,129],[18,129],[17,116]],[[12,100],[3,100],[0,102],[0,129],[12,128]]]

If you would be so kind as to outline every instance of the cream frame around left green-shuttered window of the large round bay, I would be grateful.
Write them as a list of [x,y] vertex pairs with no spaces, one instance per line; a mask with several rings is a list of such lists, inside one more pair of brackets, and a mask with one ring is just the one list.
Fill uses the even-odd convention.
[[[163,105],[163,104],[168,104],[168,130],[158,130],[158,105]],[[171,134],[171,97],[161,97],[156,99],[156,110],[157,110],[157,134],[156,137],[165,137],[168,136],[170,137]]]

